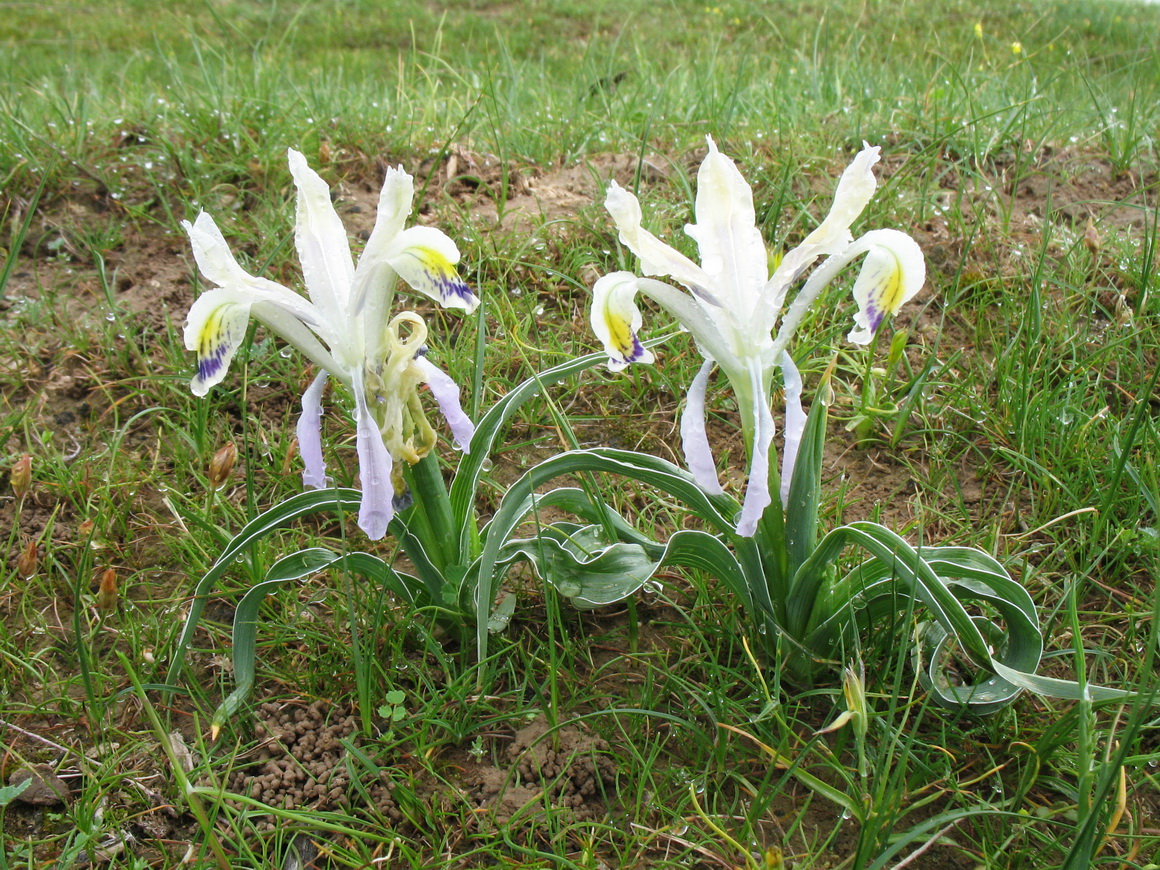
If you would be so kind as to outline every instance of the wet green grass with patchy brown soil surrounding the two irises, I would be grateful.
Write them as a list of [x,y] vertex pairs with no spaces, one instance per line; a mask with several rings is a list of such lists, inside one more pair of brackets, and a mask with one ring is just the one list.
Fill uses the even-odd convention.
[[[865,357],[843,348],[827,507],[882,516],[912,541],[992,552],[1042,608],[1049,673],[1154,689],[1155,8],[380,6],[19,5],[0,21],[0,466],[34,459],[24,503],[0,496],[10,542],[0,773],[52,763],[74,792],[67,806],[0,806],[0,869],[71,865],[125,832],[136,840],[111,867],[172,867],[189,844],[194,865],[213,865],[121,654],[194,749],[189,777],[234,867],[282,865],[299,831],[325,836],[327,865],[351,868],[733,867],[756,860],[742,850],[775,846],[796,868],[893,867],[923,847],[909,867],[1155,862],[1160,748],[1141,708],[1024,697],[988,719],[958,717],[914,684],[911,626],[884,628],[849,651],[867,665],[873,711],[863,780],[853,737],[817,733],[843,709],[836,681],[803,690],[776,662],[755,667],[738,611],[688,574],[666,575],[631,609],[592,614],[519,580],[483,694],[472,650],[437,637],[426,615],[365,589],[351,615],[342,577],[280,590],[259,635],[261,699],[354,703],[356,625],[376,705],[401,690],[406,715],[358,738],[351,778],[367,789],[385,771],[403,820],[357,788],[347,811],[226,798],[258,741],[242,717],[208,742],[233,688],[232,604],[276,558],[341,530],[303,523],[240,564],[210,603],[180,693],[155,690],[197,577],[248,517],[298,491],[291,440],[305,377],[259,329],[223,385],[189,394],[180,333],[193,264],[179,222],[210,211],[247,268],[297,282],[289,146],[348,198],[375,189],[384,162],[416,175],[423,219],[458,240],[485,299],[479,318],[429,317],[433,358],[474,384],[465,398],[478,418],[532,371],[594,349],[588,288],[635,266],[599,194],[546,226],[506,215],[521,179],[628,155],[646,223],[691,252],[681,227],[711,135],[753,182],[773,246],[814,225],[863,139],[882,144],[864,226],[913,231],[929,289],[899,319],[907,353],[882,382],[879,399],[899,409],[876,416],[861,443],[841,423],[860,407]],[[461,160],[448,179],[454,150],[478,165]],[[834,291],[807,322],[796,342],[818,361],[803,370],[807,385],[842,347],[850,313]],[[654,368],[592,371],[578,390],[550,391],[566,426],[529,405],[494,457],[481,509],[567,447],[568,430],[581,444],[676,459],[675,414],[697,364],[677,338]],[[735,404],[717,392],[710,406],[735,464]],[[349,483],[353,429],[332,413],[327,432],[331,469]],[[239,464],[212,493],[208,463],[229,441]],[[601,486],[641,522],[681,522],[650,493]],[[29,541],[39,564],[23,578],[15,559]],[[107,568],[119,604],[99,611]],[[509,770],[513,733],[538,715],[557,728],[549,741],[575,720],[608,741],[596,752],[617,776],[600,786],[600,812],[578,818],[541,797],[481,824],[472,777]],[[867,802],[870,821],[843,819],[798,771]],[[273,832],[259,824],[267,812],[280,820]]]

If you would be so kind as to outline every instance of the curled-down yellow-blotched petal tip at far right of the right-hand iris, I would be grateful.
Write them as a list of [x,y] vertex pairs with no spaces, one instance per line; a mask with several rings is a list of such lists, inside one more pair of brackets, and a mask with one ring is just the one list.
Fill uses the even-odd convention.
[[850,246],[849,256],[867,252],[867,259],[854,282],[854,299],[858,311],[849,340],[865,345],[873,338],[886,316],[898,313],[922,289],[927,264],[922,248],[898,230],[872,230]]

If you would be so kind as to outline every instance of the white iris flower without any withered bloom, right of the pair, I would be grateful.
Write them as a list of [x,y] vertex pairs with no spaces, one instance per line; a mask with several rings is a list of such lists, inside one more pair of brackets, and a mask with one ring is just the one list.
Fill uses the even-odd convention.
[[[684,231],[697,242],[701,263],[674,251],[641,223],[640,203],[612,182],[604,205],[619,230],[621,241],[640,259],[639,277],[616,271],[593,288],[592,325],[604,345],[609,368],[648,363],[652,353],[638,338],[643,318],[636,295],[644,293],[684,326],[704,357],[689,387],[681,418],[686,462],[697,483],[722,492],[705,436],[705,392],[719,368],[737,396],[749,451],[749,474],[737,531],[753,535],[769,493],[769,452],[774,440],[770,412],[773,380],[783,372],[786,394],[786,450],[782,500],[788,494],[796,440],[805,415],[800,409],[802,379],[786,347],[819,293],[855,259],[865,255],[854,282],[857,313],[849,340],[868,343],[887,314],[894,314],[926,280],[922,252],[906,233],[872,230],[857,240],[850,224],[873,195],[871,167],[878,148],[864,145],[842,173],[829,213],[805,240],[789,251],[770,275],[766,244],[757,231],[753,191],[737,166],[709,139],[709,154],[697,173],[696,223]],[[784,311],[786,295],[819,258],[825,258]],[[651,276],[672,278],[683,289]],[[775,332],[776,328],[776,332]]]

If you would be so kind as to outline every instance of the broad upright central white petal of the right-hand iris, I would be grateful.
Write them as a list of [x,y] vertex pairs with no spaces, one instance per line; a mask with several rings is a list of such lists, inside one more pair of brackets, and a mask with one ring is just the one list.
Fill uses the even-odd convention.
[[[712,139],[697,173],[697,223],[684,231],[697,241],[701,268],[718,304],[742,326],[753,324],[769,278],[766,242],[757,231],[753,191]],[[766,331],[769,332],[768,329]]]

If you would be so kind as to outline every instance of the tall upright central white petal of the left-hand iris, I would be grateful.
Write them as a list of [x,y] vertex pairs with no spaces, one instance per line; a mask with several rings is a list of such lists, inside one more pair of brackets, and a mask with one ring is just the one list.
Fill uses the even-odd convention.
[[314,304],[338,320],[346,314],[355,277],[346,227],[331,204],[331,188],[310,168],[306,158],[289,150],[290,173],[298,187],[295,244],[302,275]]

